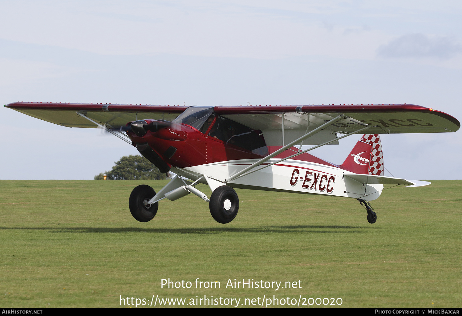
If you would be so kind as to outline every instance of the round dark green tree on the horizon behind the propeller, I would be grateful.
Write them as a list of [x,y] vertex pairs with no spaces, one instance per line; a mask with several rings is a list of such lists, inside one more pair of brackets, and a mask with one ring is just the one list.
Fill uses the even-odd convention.
[[[123,156],[115,162],[112,170],[105,172],[108,180],[158,180],[165,179],[165,174],[160,173],[145,157],[140,155]],[[97,174],[95,180],[103,180],[103,173]]]

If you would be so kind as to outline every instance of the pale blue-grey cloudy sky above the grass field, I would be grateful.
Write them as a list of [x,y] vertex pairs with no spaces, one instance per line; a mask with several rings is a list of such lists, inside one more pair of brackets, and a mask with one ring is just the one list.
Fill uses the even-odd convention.
[[[407,103],[462,119],[461,1],[0,0],[0,12],[1,104]],[[5,107],[0,124],[0,179],[93,179],[138,154]],[[460,131],[381,137],[386,175],[462,179]],[[311,153],[341,164],[359,138]]]

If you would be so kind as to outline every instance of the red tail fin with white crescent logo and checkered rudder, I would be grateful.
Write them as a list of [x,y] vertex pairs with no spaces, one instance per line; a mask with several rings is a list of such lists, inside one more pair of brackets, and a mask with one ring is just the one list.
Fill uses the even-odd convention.
[[340,167],[354,173],[383,175],[383,153],[379,135],[364,134]]

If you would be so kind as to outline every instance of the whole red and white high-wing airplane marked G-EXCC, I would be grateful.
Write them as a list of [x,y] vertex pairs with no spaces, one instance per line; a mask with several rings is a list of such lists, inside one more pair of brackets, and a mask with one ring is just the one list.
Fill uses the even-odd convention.
[[[452,116],[412,104],[186,107],[15,102],[6,107],[62,126],[104,128],[135,146],[170,177],[157,193],[148,185],[132,191],[130,212],[141,222],[152,220],[164,198],[173,201],[193,193],[209,202],[216,221],[229,223],[239,209],[233,188],[243,188],[353,197],[374,223],[377,215],[368,201],[380,196],[383,185],[430,184],[383,176],[379,134],[460,128]],[[368,134],[340,166],[307,153],[363,132]],[[314,146],[301,150],[302,145]],[[212,195],[196,189],[197,183],[208,185]]]

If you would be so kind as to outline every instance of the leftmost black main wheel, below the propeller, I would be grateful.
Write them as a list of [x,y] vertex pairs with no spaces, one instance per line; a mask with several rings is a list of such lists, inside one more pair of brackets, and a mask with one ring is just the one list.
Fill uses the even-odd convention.
[[148,204],[149,200],[156,195],[156,191],[149,185],[138,185],[133,189],[128,199],[130,213],[137,221],[151,221],[156,216],[159,203]]

